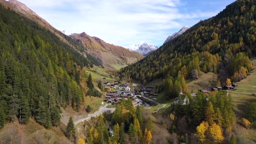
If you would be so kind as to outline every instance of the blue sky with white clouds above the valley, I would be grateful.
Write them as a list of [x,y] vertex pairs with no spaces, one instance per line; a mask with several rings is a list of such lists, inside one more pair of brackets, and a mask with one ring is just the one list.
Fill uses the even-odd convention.
[[161,46],[183,26],[219,13],[234,0],[19,0],[66,34],[85,32],[114,45]]

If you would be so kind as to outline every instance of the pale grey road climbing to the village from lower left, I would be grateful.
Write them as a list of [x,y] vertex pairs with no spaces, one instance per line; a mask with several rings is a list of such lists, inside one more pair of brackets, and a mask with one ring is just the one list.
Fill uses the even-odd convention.
[[98,111],[84,117],[84,118],[81,118],[79,119],[78,121],[75,121],[74,122],[74,125],[77,125],[78,123],[80,122],[84,122],[84,121],[88,121],[91,119],[91,117],[97,117],[99,115],[101,115],[102,113],[106,112],[106,111],[111,111],[111,112],[114,112],[115,111],[115,108],[107,108],[108,104],[104,105],[103,107],[101,107]]

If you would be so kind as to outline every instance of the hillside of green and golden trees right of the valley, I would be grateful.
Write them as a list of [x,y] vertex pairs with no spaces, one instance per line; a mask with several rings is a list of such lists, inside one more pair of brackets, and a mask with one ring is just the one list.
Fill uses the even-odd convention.
[[[217,16],[200,21],[151,55],[121,69],[120,77],[131,75],[144,85],[162,78],[180,87],[183,78],[196,79],[200,71],[218,74],[223,69],[234,82],[245,79],[253,69],[249,57],[256,53],[255,5],[252,0],[228,5]],[[182,74],[179,80],[178,74]]]

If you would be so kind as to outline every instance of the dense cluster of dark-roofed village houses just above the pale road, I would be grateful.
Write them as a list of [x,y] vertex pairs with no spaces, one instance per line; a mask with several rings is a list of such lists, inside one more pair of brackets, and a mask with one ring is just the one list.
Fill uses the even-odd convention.
[[105,100],[107,101],[107,103],[120,103],[120,101],[122,99],[127,99],[127,98],[131,98],[133,99],[135,97],[135,95],[133,95],[133,93],[131,93],[130,91],[109,91],[106,96],[105,96]]

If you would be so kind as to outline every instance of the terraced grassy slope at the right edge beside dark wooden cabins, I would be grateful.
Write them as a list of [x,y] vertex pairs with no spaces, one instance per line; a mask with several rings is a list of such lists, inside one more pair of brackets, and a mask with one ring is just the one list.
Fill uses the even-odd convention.
[[[256,65],[256,61],[253,60],[252,63]],[[256,69],[254,69],[253,73],[248,75],[246,79],[237,83],[238,87],[235,91],[231,92],[236,109],[244,105],[246,101],[256,100],[256,97],[251,95],[252,93],[256,93]]]

